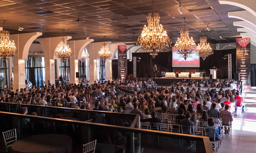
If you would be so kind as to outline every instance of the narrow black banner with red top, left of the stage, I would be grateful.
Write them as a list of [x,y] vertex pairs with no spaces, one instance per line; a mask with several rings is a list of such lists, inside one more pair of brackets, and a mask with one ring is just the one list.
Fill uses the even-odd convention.
[[118,78],[127,78],[127,45],[118,45]]

